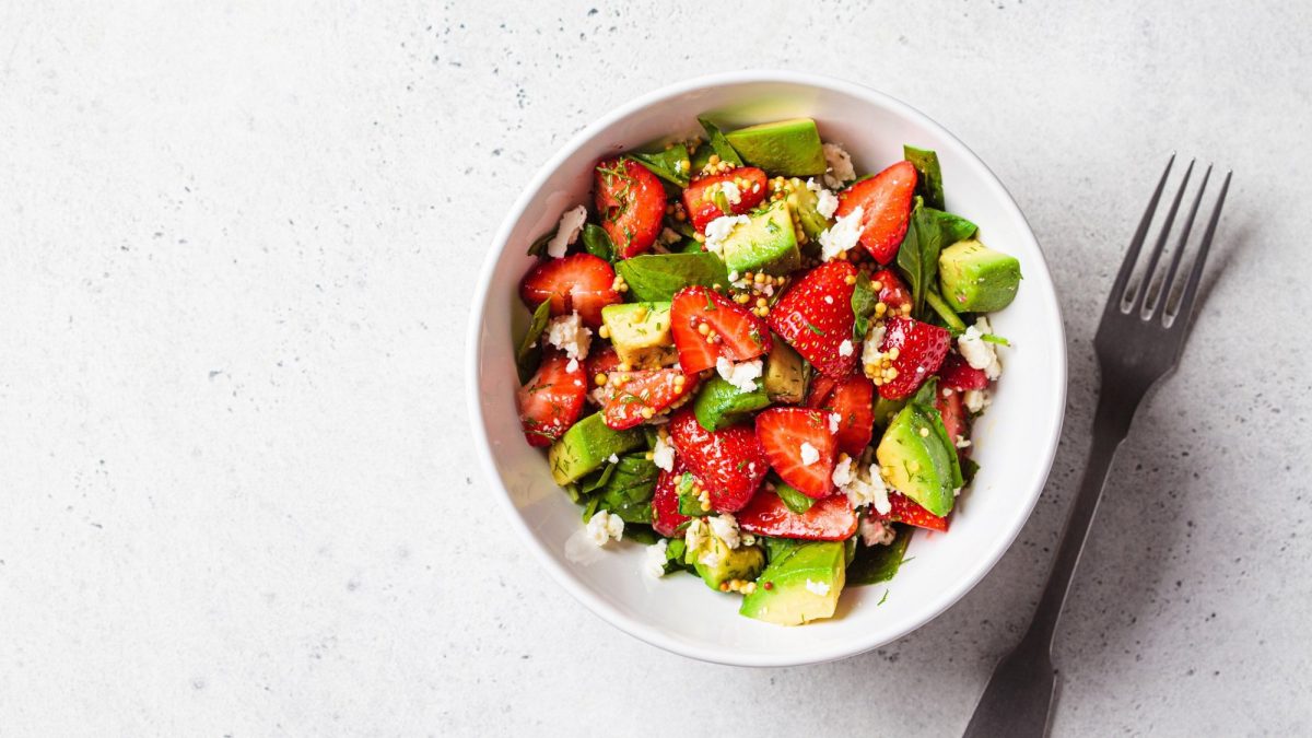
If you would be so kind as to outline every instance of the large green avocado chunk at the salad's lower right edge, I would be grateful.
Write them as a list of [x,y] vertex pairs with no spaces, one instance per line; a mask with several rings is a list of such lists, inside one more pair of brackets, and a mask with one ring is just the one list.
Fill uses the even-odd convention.
[[875,449],[884,481],[938,516],[953,511],[953,491],[960,486],[956,449],[947,444],[942,425],[934,408],[908,404]]

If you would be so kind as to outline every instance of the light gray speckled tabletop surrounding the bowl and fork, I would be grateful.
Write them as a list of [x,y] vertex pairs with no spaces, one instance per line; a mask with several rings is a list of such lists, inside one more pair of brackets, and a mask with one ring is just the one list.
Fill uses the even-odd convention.
[[[1094,315],[1170,150],[1236,169],[1219,278],[1115,467],[1054,729],[1312,731],[1312,13],[1242,5],[0,5],[0,733],[959,731],[1036,599]],[[632,95],[743,66],[956,133],[1069,336],[1012,552],[922,630],[808,668],[585,612],[508,538],[463,407],[472,274],[531,172]]]

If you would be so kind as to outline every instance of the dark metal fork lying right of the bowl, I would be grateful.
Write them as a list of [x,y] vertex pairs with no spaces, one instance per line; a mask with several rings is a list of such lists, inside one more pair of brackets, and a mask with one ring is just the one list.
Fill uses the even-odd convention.
[[[1144,394],[1158,380],[1166,376],[1179,361],[1181,351],[1185,347],[1185,337],[1189,334],[1189,324],[1193,316],[1194,302],[1198,299],[1198,285],[1203,273],[1203,263],[1212,246],[1212,236],[1216,234],[1216,222],[1221,215],[1221,206],[1225,204],[1225,192],[1229,189],[1231,173],[1225,173],[1220,194],[1207,222],[1207,231],[1203,234],[1200,246],[1194,256],[1193,268],[1185,276],[1185,285],[1177,290],[1177,271],[1181,255],[1189,243],[1189,234],[1198,215],[1198,206],[1207,189],[1212,168],[1207,167],[1203,181],[1198,188],[1198,194],[1189,209],[1189,217],[1183,222],[1179,240],[1170,256],[1170,264],[1160,281],[1153,280],[1162,252],[1166,247],[1179,202],[1189,185],[1189,177],[1194,171],[1194,163],[1189,163],[1183,181],[1176,193],[1166,211],[1161,235],[1152,247],[1148,256],[1148,265],[1143,276],[1131,286],[1131,277],[1135,264],[1143,251],[1144,239],[1148,235],[1157,204],[1161,200],[1162,188],[1170,175],[1170,167],[1176,156],[1166,162],[1166,171],[1162,172],[1157,189],[1148,201],[1148,210],[1139,222],[1135,238],[1130,243],[1130,251],[1120,264],[1120,272],[1111,286],[1111,295],[1102,311],[1102,322],[1098,324],[1098,334],[1093,340],[1094,352],[1098,356],[1098,365],[1102,369],[1102,389],[1098,398],[1098,408],[1093,416],[1093,448],[1089,450],[1089,465],[1084,471],[1084,481],[1075,498],[1061,532],[1057,557],[1048,574],[1048,583],[1043,590],[1043,597],[1030,621],[1021,643],[998,662],[989,679],[984,696],[980,697],[975,714],[970,725],[966,726],[968,738],[1025,738],[1040,737],[1048,726],[1048,717],[1052,708],[1052,696],[1056,687],[1056,674],[1052,668],[1052,636],[1056,630],[1061,607],[1071,590],[1071,578],[1080,563],[1080,552],[1089,537],[1089,524],[1098,511],[1098,500],[1102,498],[1102,488],[1111,467],[1111,460],[1117,454],[1117,448],[1130,432],[1135,410],[1143,401]],[[1156,290],[1153,286],[1156,285]],[[1179,292],[1174,311],[1168,311],[1173,293]]]

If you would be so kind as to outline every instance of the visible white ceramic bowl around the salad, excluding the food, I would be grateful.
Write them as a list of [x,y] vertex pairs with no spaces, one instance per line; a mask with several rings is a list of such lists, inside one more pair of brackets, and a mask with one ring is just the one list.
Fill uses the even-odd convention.
[[[807,116],[842,143],[858,173],[901,159],[903,143],[938,151],[949,207],[981,239],[1021,260],[1025,281],[993,318],[1012,340],[993,406],[976,423],[980,473],[959,500],[951,532],[917,532],[897,576],[842,594],[834,619],[782,628],[737,615],[740,597],[697,578],[642,574],[643,546],[609,544],[583,565],[565,555],[580,510],[530,448],[516,414],[514,343],[527,323],[518,284],[527,246],[567,207],[590,202],[593,164],[651,141],[699,131],[695,117],[739,126]],[[1043,490],[1065,407],[1065,339],[1052,281],[1015,202],[970,148],[924,114],[865,87],[795,72],[735,72],[682,81],[623,105],[573,137],[525,186],[483,265],[470,316],[468,402],[474,443],[510,524],[548,573],[594,613],[649,643],[728,664],[785,666],[858,654],[893,641],[947,609],[1012,544]],[[888,597],[880,604],[886,590]]]

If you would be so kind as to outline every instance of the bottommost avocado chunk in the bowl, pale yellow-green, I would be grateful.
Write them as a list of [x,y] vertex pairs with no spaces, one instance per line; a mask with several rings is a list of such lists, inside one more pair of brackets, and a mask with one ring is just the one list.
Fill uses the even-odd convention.
[[743,597],[740,615],[802,625],[833,617],[846,583],[848,553],[842,541],[795,546],[773,561],[756,579],[756,590]]

